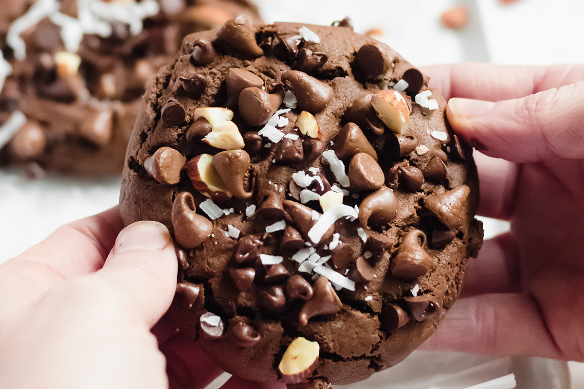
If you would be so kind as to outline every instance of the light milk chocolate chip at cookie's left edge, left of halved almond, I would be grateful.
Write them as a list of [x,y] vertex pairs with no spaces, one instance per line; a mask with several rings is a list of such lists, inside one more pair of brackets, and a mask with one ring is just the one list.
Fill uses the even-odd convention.
[[185,156],[178,150],[164,146],[144,160],[144,169],[159,183],[174,185],[180,181],[185,162]]

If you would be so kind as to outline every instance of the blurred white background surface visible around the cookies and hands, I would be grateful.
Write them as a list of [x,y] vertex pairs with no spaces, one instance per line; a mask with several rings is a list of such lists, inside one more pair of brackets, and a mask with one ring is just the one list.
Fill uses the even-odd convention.
[[[415,66],[480,61],[498,64],[584,62],[581,16],[576,0],[256,0],[266,22],[331,24],[346,16],[354,30],[385,41]],[[466,26],[444,26],[441,15],[467,10]],[[456,15],[455,15],[456,16]],[[454,20],[455,22],[457,20]],[[47,173],[27,178],[23,170],[0,170],[0,263],[38,243],[55,227],[117,204],[120,178],[72,178]],[[486,237],[506,223],[485,220]],[[430,361],[430,362],[429,362]],[[522,382],[513,373],[537,380]],[[415,352],[387,373],[352,388],[573,388],[584,387],[579,363]]]

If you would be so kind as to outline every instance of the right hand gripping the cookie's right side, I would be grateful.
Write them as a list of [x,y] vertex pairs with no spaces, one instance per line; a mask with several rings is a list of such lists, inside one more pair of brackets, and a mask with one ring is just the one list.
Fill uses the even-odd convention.
[[422,348],[584,360],[584,65],[423,72],[481,151],[479,215],[510,231],[471,258],[463,298]]

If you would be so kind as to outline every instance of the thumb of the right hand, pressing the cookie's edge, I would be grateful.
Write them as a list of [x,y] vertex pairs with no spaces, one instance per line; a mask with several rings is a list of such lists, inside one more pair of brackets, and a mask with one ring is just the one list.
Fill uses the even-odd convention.
[[584,157],[584,82],[496,103],[453,98],[450,125],[472,146],[511,162]]

